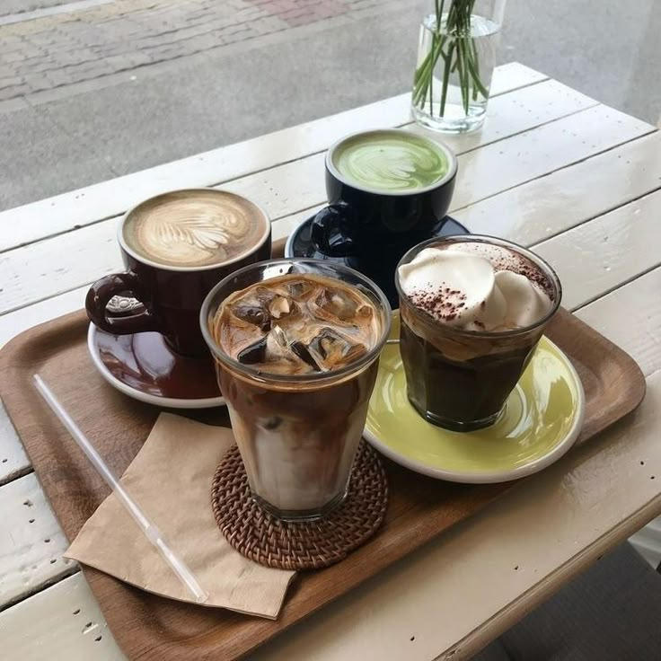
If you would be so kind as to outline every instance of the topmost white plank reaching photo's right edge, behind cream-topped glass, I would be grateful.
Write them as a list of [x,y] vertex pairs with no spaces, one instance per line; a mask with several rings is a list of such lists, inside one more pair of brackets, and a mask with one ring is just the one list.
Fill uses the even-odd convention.
[[477,234],[532,245],[661,188],[661,132],[506,190],[454,217]]

